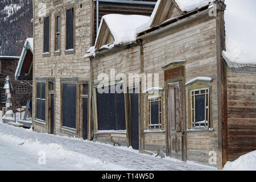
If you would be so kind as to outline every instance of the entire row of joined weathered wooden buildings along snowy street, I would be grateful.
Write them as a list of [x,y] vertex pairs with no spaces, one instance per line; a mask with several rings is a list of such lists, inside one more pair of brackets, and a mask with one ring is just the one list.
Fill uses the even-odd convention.
[[219,168],[255,150],[255,66],[224,59],[226,6],[205,2],[34,0],[34,130]]

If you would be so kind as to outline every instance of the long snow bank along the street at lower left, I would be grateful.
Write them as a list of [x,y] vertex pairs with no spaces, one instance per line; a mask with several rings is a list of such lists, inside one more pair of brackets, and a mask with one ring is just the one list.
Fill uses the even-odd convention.
[[[79,152],[67,150],[61,146],[61,144],[46,144],[40,142],[38,139],[36,139],[36,141],[33,141],[32,139],[21,139],[13,135],[6,135],[3,133],[0,133],[0,139],[7,143],[15,144],[17,147],[22,147],[23,151],[28,151],[27,153],[31,156],[37,156],[39,158],[39,152],[45,152],[46,165],[52,161],[56,161],[56,163],[64,163],[64,165],[67,166],[67,170],[72,169],[69,168],[69,166],[80,168],[82,170],[129,170],[126,167],[121,167],[100,159],[92,158]],[[35,161],[37,162],[37,159],[35,159]],[[27,163],[31,162],[31,160],[27,161]],[[34,165],[38,166],[38,164]]]

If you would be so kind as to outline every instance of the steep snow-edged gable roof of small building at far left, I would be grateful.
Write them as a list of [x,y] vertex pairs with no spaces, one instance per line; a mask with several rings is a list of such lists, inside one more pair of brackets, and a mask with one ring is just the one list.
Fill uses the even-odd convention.
[[25,58],[26,53],[27,53],[27,49],[30,49],[30,51],[33,53],[33,38],[27,38],[25,43],[24,43],[22,53],[19,57],[19,63],[18,63],[18,66],[16,68],[16,71],[15,71],[15,79],[18,78],[18,76],[20,76],[20,71],[22,69],[22,65],[23,65],[23,61],[24,61],[24,58]]

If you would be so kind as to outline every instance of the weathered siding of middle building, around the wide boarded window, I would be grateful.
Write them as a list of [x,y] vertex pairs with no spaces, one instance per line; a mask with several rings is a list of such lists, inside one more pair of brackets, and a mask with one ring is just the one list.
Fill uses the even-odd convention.
[[[141,49],[139,46],[132,46],[132,47],[122,47],[122,48],[116,48],[114,51],[106,51],[105,53],[102,53],[101,55],[96,56],[92,60],[92,78],[93,78],[93,84],[99,84],[102,82],[102,80],[98,80],[98,75],[105,73],[109,76],[110,79],[110,69],[114,69],[115,76],[117,76],[120,73],[123,73],[127,77],[127,82],[129,81],[129,74],[134,73],[140,73],[141,72]],[[117,79],[115,79],[117,80]],[[110,80],[109,80],[110,81]],[[113,80],[112,80],[113,81]],[[107,81],[108,82],[108,81]],[[133,82],[134,83],[134,82]],[[133,84],[132,83],[132,84]],[[128,87],[132,86],[138,86],[138,85],[129,85]],[[128,146],[129,141],[129,127],[130,127],[130,121],[127,122],[127,115],[129,113],[128,108],[128,98],[127,94],[125,94],[125,102],[126,102],[126,134],[105,134],[102,135],[96,134],[95,139],[102,141],[102,142],[114,142],[118,143],[122,146]],[[96,103],[94,103],[95,105]],[[94,107],[94,106],[93,106]],[[94,111],[94,126],[97,126],[96,118],[97,113]],[[94,130],[96,128],[94,127]]]

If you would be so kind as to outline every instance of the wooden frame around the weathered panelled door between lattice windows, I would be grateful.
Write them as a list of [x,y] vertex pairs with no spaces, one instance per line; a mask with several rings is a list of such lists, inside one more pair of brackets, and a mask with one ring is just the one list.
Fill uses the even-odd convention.
[[186,114],[185,114],[185,106],[186,106],[186,102],[185,102],[185,83],[184,83],[184,76],[181,77],[177,77],[177,78],[172,78],[170,80],[167,80],[164,82],[164,90],[166,90],[166,94],[165,94],[165,115],[166,115],[166,155],[170,156],[170,145],[169,145],[169,138],[170,138],[170,126],[168,123],[168,84],[172,83],[172,82],[177,82],[177,81],[181,81],[182,82],[182,90],[183,93],[182,94],[182,109],[183,109],[183,121],[182,121],[182,126],[181,126],[181,134],[183,134],[183,137],[181,138],[182,140],[182,160],[183,161],[187,161],[187,123],[186,123]]

